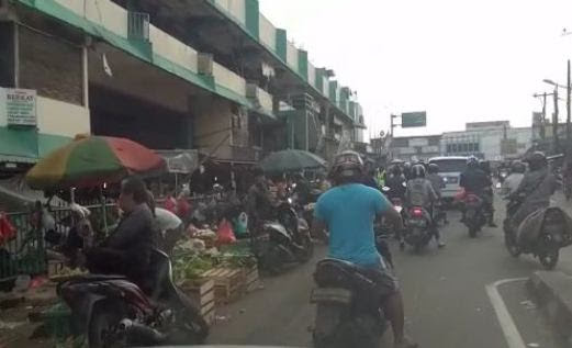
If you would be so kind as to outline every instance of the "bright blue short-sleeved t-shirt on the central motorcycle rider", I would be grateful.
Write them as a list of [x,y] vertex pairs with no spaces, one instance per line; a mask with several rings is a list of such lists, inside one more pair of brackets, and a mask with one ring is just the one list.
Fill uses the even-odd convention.
[[390,206],[379,190],[360,183],[341,184],[322,194],[315,216],[328,227],[329,257],[360,266],[378,265],[373,221]]

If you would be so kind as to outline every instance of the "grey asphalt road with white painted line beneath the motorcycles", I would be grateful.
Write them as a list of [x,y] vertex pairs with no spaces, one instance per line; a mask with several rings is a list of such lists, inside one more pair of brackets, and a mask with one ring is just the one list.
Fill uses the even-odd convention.
[[[500,203],[497,209],[502,218],[504,209]],[[451,213],[450,220],[442,231],[448,244],[445,249],[430,246],[415,255],[394,248],[408,333],[422,347],[565,347],[554,338],[519,280],[540,270],[540,263],[528,256],[509,257],[501,228],[486,228],[470,239],[458,223],[459,215]],[[572,274],[570,251],[563,252],[557,269]],[[266,279],[263,290],[225,308],[222,315],[227,321],[213,329],[211,341],[311,347],[311,276],[324,252],[318,249],[307,265]],[[502,280],[505,282],[485,289]]]

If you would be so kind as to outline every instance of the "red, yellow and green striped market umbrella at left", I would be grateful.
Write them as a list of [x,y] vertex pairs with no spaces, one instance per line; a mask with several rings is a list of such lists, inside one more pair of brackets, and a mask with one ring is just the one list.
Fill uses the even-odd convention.
[[26,181],[37,190],[88,188],[165,169],[166,162],[160,156],[133,141],[77,136],[40,160],[27,172]]

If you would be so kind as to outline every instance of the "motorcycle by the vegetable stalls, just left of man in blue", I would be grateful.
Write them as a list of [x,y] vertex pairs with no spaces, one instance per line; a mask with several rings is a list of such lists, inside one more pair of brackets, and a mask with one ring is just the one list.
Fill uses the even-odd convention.
[[291,202],[277,207],[276,218],[263,222],[251,236],[251,247],[259,266],[279,273],[287,263],[306,262],[314,254],[307,223],[298,216]]

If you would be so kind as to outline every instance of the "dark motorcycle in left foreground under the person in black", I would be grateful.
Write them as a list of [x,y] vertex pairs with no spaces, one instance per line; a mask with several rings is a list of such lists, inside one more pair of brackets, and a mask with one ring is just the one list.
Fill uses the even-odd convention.
[[169,257],[152,254],[153,279],[146,294],[121,276],[88,274],[58,284],[71,308],[72,325],[90,348],[202,344],[209,325],[172,281]]

